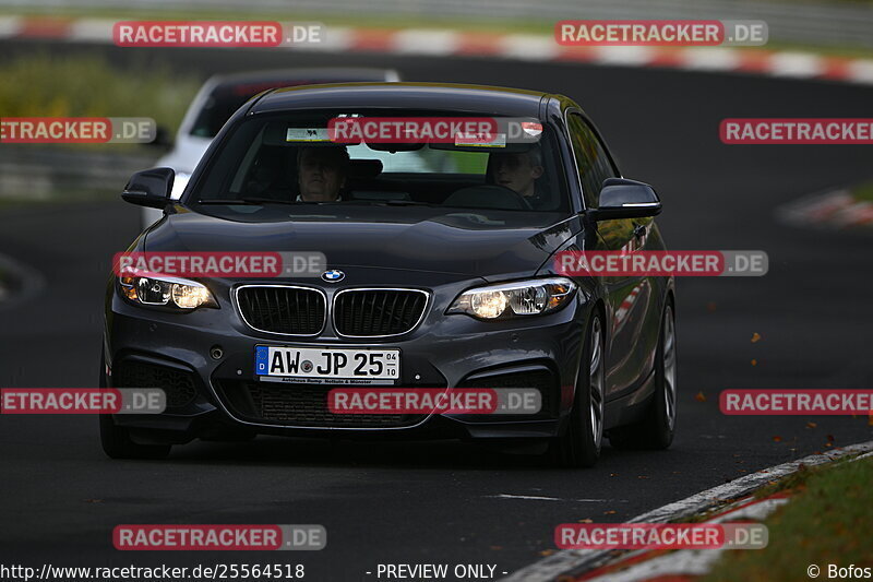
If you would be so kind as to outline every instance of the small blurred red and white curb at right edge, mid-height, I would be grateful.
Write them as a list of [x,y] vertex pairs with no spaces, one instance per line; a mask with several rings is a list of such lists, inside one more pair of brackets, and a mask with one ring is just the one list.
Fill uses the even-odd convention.
[[846,189],[830,190],[780,206],[776,210],[776,217],[791,226],[871,228],[873,202],[856,200]]

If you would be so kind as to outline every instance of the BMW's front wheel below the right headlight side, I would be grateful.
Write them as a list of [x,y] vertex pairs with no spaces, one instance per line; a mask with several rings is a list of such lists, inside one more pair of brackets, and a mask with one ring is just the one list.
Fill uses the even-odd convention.
[[[594,349],[597,349],[599,363],[594,368]],[[603,355],[603,326],[598,312],[591,316],[585,334],[585,348],[579,364],[576,380],[576,394],[570,413],[570,423],[564,433],[549,443],[551,462],[561,467],[591,467],[600,456],[603,438],[603,394],[606,387],[606,358]],[[599,387],[593,381],[597,378]],[[594,390],[593,390],[594,387]],[[599,399],[595,394],[599,392]],[[594,401],[593,401],[594,399]],[[597,402],[599,400],[599,403]],[[591,406],[591,403],[595,406]],[[599,409],[598,427],[595,415]]]

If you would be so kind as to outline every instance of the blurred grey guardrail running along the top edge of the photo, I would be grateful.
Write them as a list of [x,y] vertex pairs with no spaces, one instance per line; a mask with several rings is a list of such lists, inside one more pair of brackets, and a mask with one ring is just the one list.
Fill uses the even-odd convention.
[[[174,11],[178,0],[0,0],[22,9],[99,8]],[[770,0],[186,0],[190,10],[244,9],[249,13],[295,12],[392,16],[457,16],[490,21],[564,19],[763,20],[772,40],[873,47],[873,4],[806,3]]]

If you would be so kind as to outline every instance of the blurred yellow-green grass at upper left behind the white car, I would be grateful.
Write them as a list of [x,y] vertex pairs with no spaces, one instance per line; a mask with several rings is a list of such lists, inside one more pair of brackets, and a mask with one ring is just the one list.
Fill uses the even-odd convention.
[[151,117],[170,132],[201,84],[175,78],[168,68],[117,69],[96,55],[38,52],[8,60],[0,79],[3,117]]

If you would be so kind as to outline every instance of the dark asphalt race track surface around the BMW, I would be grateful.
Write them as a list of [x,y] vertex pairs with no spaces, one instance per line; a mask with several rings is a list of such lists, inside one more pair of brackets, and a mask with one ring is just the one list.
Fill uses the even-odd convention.
[[[36,46],[0,44],[0,52],[11,57]],[[380,562],[495,563],[499,573],[512,572],[554,548],[560,523],[626,521],[827,450],[829,439],[834,447],[870,440],[866,417],[727,417],[718,409],[727,388],[873,388],[873,238],[781,226],[773,214],[801,195],[873,177],[870,150],[729,146],[718,139],[718,123],[726,117],[870,117],[873,87],[475,58],[100,50],[119,62],[167,62],[198,79],[246,68],[375,66],[396,68],[409,81],[564,93],[598,123],[623,174],[655,185],[665,205],[658,221],[672,249],[763,249],[770,272],[679,281],[673,447],[657,453],[606,447],[589,471],[457,442],[266,437],[196,442],[162,462],[118,462],[104,456],[94,417],[0,417],[0,561],[299,561],[310,580],[375,580]],[[139,209],[120,199],[0,212],[0,253],[45,280],[38,295],[0,310],[0,385],[96,384],[110,259],[133,239]],[[753,333],[762,340],[752,343]],[[695,397],[699,392],[705,401]],[[811,420],[815,428],[808,428]],[[278,555],[124,554],[111,544],[120,523],[318,523],[328,544],[319,553]]]

